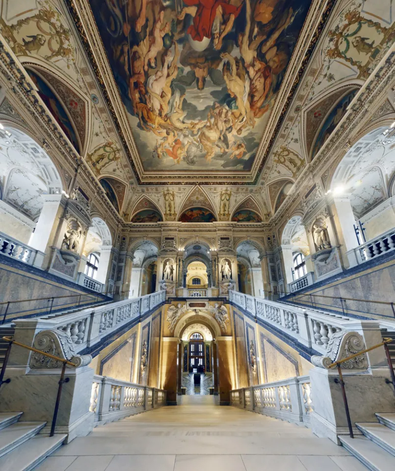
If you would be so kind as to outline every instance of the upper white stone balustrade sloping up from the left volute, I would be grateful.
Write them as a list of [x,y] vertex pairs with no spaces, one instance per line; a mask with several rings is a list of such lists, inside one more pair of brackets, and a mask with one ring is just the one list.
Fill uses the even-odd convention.
[[[118,330],[135,318],[146,314],[165,301],[165,291],[157,291],[140,298],[127,299],[104,306],[82,309],[77,313],[43,316],[38,319],[17,320],[19,323],[40,322],[45,328],[62,330],[70,335],[76,351],[82,351],[99,342],[101,338]],[[25,325],[25,324],[24,324]]]

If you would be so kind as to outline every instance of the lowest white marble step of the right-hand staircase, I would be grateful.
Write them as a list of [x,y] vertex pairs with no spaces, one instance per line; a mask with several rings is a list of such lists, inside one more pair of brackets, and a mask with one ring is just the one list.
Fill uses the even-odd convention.
[[395,456],[366,437],[339,436],[344,448],[358,458],[370,471],[395,470]]

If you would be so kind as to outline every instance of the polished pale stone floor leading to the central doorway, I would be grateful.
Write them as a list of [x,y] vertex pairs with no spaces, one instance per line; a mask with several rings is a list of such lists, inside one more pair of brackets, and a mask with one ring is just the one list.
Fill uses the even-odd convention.
[[220,407],[214,396],[180,398],[95,428],[35,471],[367,471],[304,426]]

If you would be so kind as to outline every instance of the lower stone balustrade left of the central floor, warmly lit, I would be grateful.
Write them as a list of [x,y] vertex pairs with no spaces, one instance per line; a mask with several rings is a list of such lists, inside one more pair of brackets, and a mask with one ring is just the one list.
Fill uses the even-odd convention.
[[166,391],[94,375],[89,411],[104,424],[166,404]]

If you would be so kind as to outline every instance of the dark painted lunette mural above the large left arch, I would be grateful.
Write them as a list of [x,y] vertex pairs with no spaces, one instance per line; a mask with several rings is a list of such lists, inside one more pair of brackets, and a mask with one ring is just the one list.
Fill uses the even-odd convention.
[[60,126],[62,131],[69,138],[69,141],[73,144],[74,148],[78,153],[81,152],[79,139],[77,133],[74,130],[74,127],[70,121],[69,116],[67,115],[64,105],[60,103],[59,99],[53,93],[52,88],[43,80],[39,75],[33,72],[30,69],[27,69],[29,77],[33,80],[34,84],[38,88],[38,93],[49,109],[50,113],[55,118],[57,124]]

